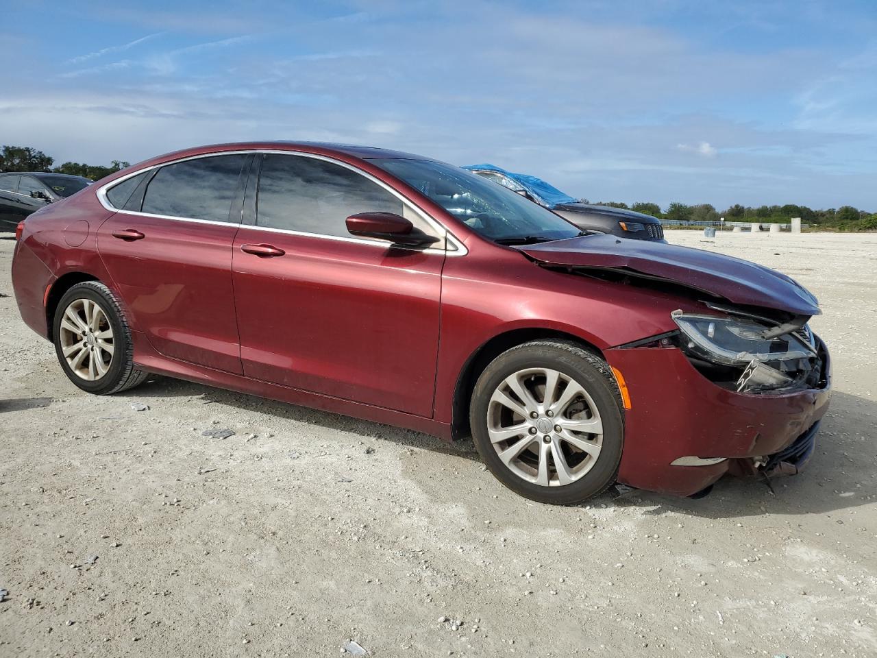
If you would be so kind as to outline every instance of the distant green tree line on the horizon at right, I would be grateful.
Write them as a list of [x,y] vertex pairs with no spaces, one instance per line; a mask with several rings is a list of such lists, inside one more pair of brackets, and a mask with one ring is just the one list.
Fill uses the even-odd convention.
[[[588,203],[582,199],[582,203]],[[806,205],[759,205],[757,208],[733,204],[730,208],[719,212],[711,204],[680,204],[675,202],[662,211],[660,205],[640,201],[636,204],[625,204],[617,201],[601,201],[599,205],[610,205],[614,208],[625,208],[631,211],[652,215],[659,219],[692,222],[709,225],[724,217],[726,222],[760,222],[762,224],[788,224],[793,217],[800,217],[803,224],[823,228],[834,228],[839,231],[873,231],[877,230],[877,213],[862,211],[852,205],[840,208],[813,210]]]

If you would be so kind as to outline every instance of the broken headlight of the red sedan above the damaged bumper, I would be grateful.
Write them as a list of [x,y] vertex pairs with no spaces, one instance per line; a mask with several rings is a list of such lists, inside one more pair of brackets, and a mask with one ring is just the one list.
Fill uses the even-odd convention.
[[795,361],[815,354],[795,333],[765,338],[770,326],[743,318],[686,315],[673,312],[682,332],[682,347],[696,356],[724,366],[746,367],[752,361]]

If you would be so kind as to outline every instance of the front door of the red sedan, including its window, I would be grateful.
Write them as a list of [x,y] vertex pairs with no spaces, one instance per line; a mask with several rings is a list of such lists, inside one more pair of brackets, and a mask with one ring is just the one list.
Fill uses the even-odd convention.
[[[245,374],[430,417],[442,232],[358,170],[262,157],[255,225],[241,226],[232,256]],[[411,249],[353,238],[346,218],[365,211],[403,215],[441,240]]]

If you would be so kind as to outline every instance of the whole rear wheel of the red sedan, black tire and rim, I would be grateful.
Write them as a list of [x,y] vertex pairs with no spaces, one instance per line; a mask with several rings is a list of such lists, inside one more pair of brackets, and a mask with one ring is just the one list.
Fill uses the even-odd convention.
[[146,372],[134,368],[125,314],[103,283],[86,281],[70,288],[58,303],[52,324],[61,368],[80,389],[110,395],[146,379]]

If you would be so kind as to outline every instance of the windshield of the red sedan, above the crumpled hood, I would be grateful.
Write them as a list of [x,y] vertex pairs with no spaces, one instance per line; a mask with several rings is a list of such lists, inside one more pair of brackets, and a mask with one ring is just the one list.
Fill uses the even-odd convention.
[[581,234],[575,225],[552,211],[459,167],[393,158],[373,162],[489,240],[520,244]]

